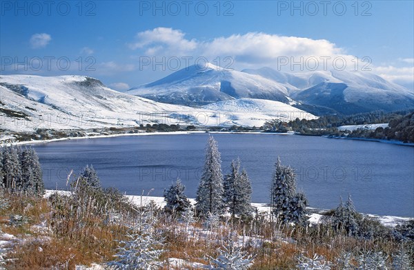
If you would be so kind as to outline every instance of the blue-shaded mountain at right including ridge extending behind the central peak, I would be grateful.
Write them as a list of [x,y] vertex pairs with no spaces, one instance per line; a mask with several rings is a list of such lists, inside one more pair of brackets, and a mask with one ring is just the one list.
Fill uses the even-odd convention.
[[[290,98],[303,105],[328,107],[342,114],[414,107],[414,93],[371,72],[305,72],[288,74],[269,67],[244,70],[283,83]],[[306,110],[306,109],[305,109]]]

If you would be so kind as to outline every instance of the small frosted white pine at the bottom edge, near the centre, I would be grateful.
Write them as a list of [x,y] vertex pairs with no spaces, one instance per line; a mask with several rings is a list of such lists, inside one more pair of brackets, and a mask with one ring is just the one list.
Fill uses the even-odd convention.
[[242,251],[242,247],[235,247],[233,240],[228,245],[221,246],[217,258],[209,258],[209,269],[214,270],[245,270],[253,265],[254,260],[254,256]]

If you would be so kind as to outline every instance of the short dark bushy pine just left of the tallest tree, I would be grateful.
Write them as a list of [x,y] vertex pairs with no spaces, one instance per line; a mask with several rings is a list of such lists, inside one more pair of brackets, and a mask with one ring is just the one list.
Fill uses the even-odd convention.
[[186,186],[181,183],[181,180],[177,178],[175,183],[172,183],[169,189],[164,190],[164,200],[166,201],[166,206],[164,209],[166,211],[175,211],[179,214],[186,211],[190,206],[190,200],[184,194]]

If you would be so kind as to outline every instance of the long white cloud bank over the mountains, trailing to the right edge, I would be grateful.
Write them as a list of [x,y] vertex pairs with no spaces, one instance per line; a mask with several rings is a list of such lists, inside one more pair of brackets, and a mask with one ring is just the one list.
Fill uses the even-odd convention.
[[[326,39],[308,39],[303,37],[285,37],[264,32],[248,32],[246,34],[232,34],[228,37],[216,37],[208,41],[186,39],[186,34],[181,30],[172,28],[155,28],[139,32],[133,43],[128,43],[132,50],[139,51],[140,56],[157,57],[205,57],[211,63],[225,66],[226,63],[217,63],[226,57],[233,59],[230,66],[235,69],[273,67],[276,70],[287,72],[313,71],[317,59],[317,70],[340,70],[342,63],[347,70],[362,71],[362,68],[372,69],[385,79],[400,82],[413,81],[412,67],[393,67],[381,65],[367,65],[366,60],[358,59],[348,54],[344,48]],[[280,65],[280,61],[288,61],[287,65]],[[333,61],[343,59],[341,61]],[[413,63],[413,59],[398,59],[400,62]],[[356,62],[358,61],[358,65]],[[372,59],[370,60],[372,61]],[[302,63],[300,64],[295,63]],[[184,61],[183,61],[184,63]],[[182,64],[182,63],[181,63]],[[190,65],[194,64],[189,63]],[[184,67],[184,66],[183,66]],[[365,71],[364,70],[364,71]]]

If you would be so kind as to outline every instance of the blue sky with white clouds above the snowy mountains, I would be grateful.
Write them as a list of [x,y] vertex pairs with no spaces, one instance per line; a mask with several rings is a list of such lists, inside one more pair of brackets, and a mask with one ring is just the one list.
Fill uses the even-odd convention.
[[414,1],[3,1],[1,74],[126,91],[189,65],[357,70],[413,89]]

